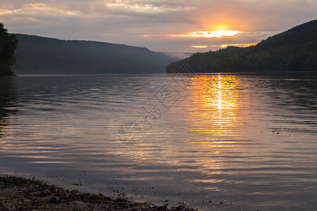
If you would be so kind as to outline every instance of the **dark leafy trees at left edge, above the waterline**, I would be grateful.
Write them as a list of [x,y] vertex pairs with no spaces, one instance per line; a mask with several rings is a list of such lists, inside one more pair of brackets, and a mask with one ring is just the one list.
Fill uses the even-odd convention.
[[15,63],[14,51],[17,44],[15,34],[8,34],[4,24],[0,23],[0,77],[15,75],[12,65]]

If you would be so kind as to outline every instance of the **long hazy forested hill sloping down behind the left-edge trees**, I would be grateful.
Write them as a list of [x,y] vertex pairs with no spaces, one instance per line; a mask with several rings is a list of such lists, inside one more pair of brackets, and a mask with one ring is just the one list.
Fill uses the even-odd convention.
[[124,44],[15,34],[16,74],[163,73],[180,58]]

